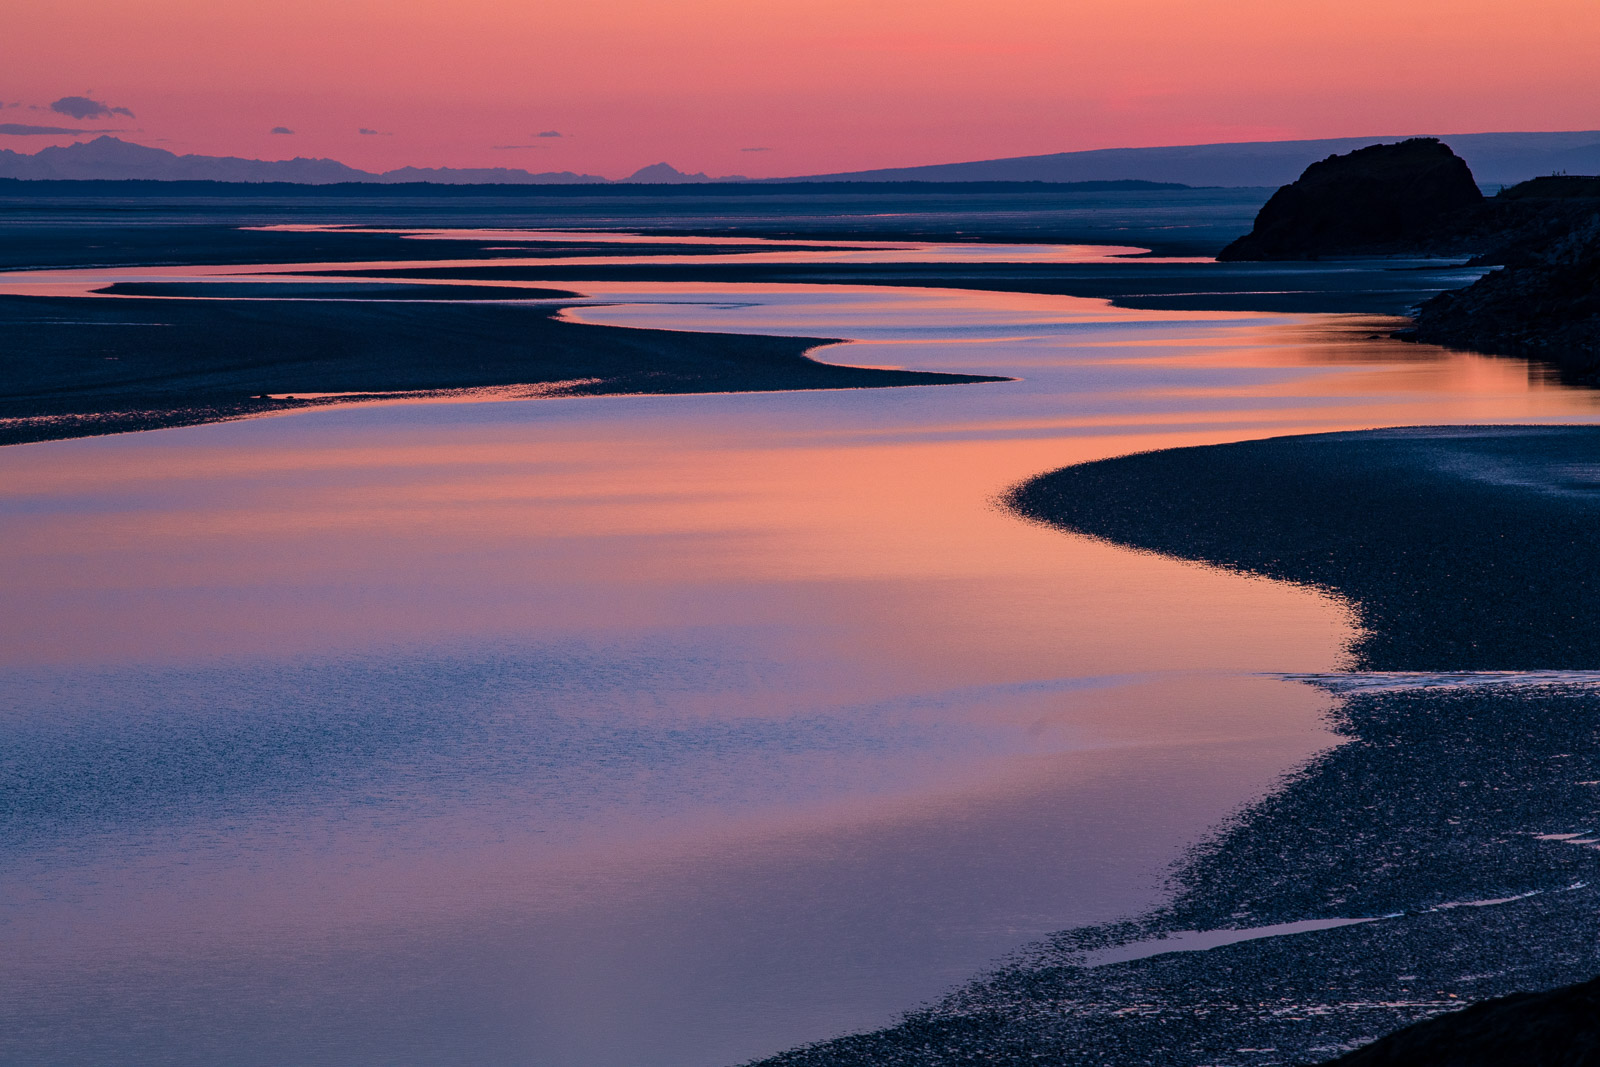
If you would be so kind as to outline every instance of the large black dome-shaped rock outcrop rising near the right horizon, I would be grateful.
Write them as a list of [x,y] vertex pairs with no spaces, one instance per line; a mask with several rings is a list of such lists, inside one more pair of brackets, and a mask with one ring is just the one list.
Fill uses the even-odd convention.
[[1221,261],[1414,251],[1483,203],[1466,162],[1437,138],[1374,144],[1312,163]]

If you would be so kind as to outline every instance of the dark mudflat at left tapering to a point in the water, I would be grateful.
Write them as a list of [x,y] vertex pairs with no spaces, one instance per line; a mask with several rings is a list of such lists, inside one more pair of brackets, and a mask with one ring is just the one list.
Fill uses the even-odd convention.
[[819,363],[806,354],[829,344],[822,338],[589,326],[555,318],[558,306],[547,302],[475,302],[555,293],[469,290],[450,294],[466,301],[442,302],[426,286],[402,286],[395,299],[304,301],[219,288],[237,299],[0,296],[0,445],[461,389],[592,395],[998,381]]

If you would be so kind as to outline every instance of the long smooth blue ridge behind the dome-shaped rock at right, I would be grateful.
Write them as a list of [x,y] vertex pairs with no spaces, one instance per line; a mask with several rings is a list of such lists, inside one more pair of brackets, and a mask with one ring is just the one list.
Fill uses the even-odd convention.
[[[1328,155],[1403,138],[1326,138],[1322,141],[1242,141],[1160,149],[1098,149],[1021,155],[973,163],[934,163],[890,170],[811,174],[773,181],[1142,181],[1186,186],[1286,186]],[[1576,133],[1469,133],[1450,146],[1486,186],[1512,186],[1541,174],[1600,173],[1600,130]]]

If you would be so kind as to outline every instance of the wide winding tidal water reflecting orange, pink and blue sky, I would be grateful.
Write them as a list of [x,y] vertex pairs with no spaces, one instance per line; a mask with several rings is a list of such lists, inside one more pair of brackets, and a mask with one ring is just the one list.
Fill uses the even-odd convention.
[[1000,493],[1600,413],[1360,317],[579,288],[582,322],[1018,381],[0,450],[0,1061],[709,1067],[893,1022],[1158,902],[1334,742],[1283,675],[1341,665],[1339,603]]

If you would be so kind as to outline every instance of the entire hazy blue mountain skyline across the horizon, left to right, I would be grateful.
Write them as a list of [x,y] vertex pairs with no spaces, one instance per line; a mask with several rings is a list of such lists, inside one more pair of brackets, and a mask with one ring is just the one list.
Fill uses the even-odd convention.
[[[1277,187],[1294,181],[1307,165],[1328,155],[1403,138],[1325,138],[1318,141],[1246,141],[1189,144],[1154,149],[1098,149],[1056,152],[1003,160],[934,163],[838,174],[808,174],[765,181],[1155,181],[1186,186]],[[1483,186],[1510,186],[1544,174],[1600,173],[1600,130],[1565,133],[1467,133],[1443,139],[1472,168]],[[451,186],[579,186],[616,184],[598,174],[573,171],[530,173],[509,166],[402,166],[363,171],[338,160],[246,160],[234,155],[178,155],[165,149],[99,136],[64,147],[45,147],[27,155],[0,149],[0,178],[21,179],[158,179],[229,182],[434,182]],[[621,182],[686,184],[744,182],[741,176],[688,174],[667,163],[653,163]]]

